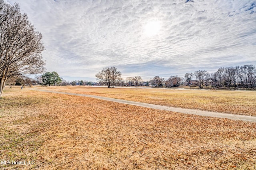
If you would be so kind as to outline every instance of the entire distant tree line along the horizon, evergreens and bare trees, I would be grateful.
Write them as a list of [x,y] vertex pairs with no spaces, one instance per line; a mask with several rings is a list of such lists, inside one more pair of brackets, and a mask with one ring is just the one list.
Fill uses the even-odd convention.
[[[30,87],[33,84],[40,85],[107,85],[109,88],[115,86],[152,86],[152,87],[177,87],[181,85],[214,87],[214,88],[255,88],[256,87],[256,67],[254,65],[243,65],[236,67],[220,67],[216,72],[208,73],[205,70],[197,70],[194,73],[186,73],[184,77],[171,75],[168,79],[155,76],[149,81],[142,81],[142,78],[137,75],[135,77],[127,77],[126,81],[121,78],[121,72],[116,67],[105,67],[96,74],[97,83],[92,81],[74,80],[66,81],[55,71],[47,72],[42,75],[35,76],[34,79],[20,75],[9,78],[6,85],[10,88],[19,84],[24,87],[25,84]],[[196,79],[196,80],[193,80]]]

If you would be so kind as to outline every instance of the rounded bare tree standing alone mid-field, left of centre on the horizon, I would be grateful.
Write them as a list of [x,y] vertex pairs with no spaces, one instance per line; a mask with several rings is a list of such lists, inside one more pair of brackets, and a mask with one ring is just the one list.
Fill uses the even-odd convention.
[[114,88],[114,84],[116,83],[117,79],[121,77],[121,75],[122,73],[117,71],[116,67],[106,67],[95,76],[97,81],[100,83],[108,85],[108,88],[110,88],[112,85],[112,88]]

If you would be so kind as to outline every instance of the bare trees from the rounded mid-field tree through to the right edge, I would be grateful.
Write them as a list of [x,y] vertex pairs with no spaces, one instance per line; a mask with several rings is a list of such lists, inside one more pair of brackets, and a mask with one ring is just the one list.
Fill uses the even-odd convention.
[[[138,86],[152,85],[156,87],[176,87],[179,85],[196,85],[199,88],[209,86],[208,81],[211,81],[211,87],[236,87],[236,88],[255,88],[256,87],[256,67],[254,65],[243,65],[236,67],[220,67],[214,73],[208,73],[205,70],[197,70],[194,73],[186,73],[184,77],[171,75],[167,80],[163,77],[155,76],[150,81],[143,82],[140,76],[127,77],[126,82],[121,78],[120,71],[116,67],[106,67],[96,74],[97,80],[102,85],[114,87],[114,85]],[[192,80],[192,79],[196,79]],[[191,83],[191,82],[196,83]]]

